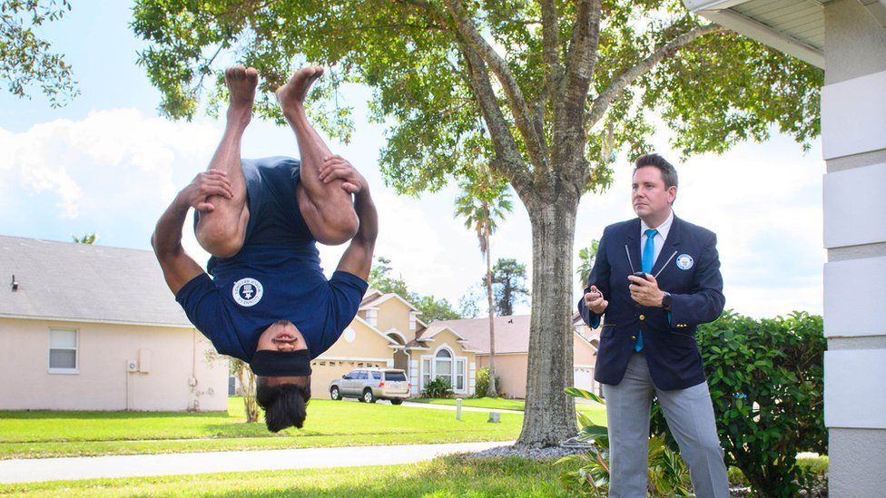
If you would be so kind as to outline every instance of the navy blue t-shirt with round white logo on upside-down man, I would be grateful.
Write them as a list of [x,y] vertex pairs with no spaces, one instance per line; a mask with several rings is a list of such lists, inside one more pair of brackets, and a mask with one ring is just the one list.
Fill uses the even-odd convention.
[[243,248],[231,258],[212,257],[212,278],[193,278],[175,300],[223,355],[251,361],[261,333],[286,319],[299,328],[311,358],[320,356],[357,314],[368,284],[344,271],[323,275],[295,197],[299,161],[243,160],[242,169],[250,209]]

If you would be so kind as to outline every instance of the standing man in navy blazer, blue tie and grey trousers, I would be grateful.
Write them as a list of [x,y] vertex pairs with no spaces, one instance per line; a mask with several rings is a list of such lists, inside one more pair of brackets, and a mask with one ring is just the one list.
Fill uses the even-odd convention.
[[[695,345],[698,324],[723,312],[714,232],[674,216],[677,173],[648,154],[635,161],[638,218],[606,227],[578,303],[603,330],[595,378],[603,384],[610,444],[609,496],[645,496],[653,396],[689,465],[699,497],[728,496],[714,407]],[[640,274],[643,276],[640,276]]]

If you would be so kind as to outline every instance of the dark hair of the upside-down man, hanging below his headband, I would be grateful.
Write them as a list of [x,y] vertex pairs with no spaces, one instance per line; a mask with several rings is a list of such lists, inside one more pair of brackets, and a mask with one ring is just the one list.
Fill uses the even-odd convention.
[[255,401],[264,408],[264,422],[272,433],[291,425],[298,428],[304,425],[310,400],[310,376],[297,378],[294,383],[276,385],[268,384],[268,377],[256,378]]

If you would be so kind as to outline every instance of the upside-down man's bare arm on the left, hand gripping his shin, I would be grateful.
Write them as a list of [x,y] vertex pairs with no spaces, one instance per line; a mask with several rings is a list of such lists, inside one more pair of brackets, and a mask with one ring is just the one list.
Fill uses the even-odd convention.
[[172,294],[178,294],[184,284],[203,273],[200,265],[182,247],[182,225],[192,207],[201,212],[214,210],[215,206],[207,202],[207,197],[212,195],[226,199],[233,196],[231,181],[223,171],[210,170],[198,174],[190,185],[175,196],[157,221],[151,246]]

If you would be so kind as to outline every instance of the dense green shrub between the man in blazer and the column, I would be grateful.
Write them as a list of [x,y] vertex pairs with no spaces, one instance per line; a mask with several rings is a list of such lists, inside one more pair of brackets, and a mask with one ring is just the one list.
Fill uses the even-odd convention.
[[[696,338],[726,464],[741,469],[753,492],[767,497],[795,496],[819,479],[796,455],[828,450],[822,317],[794,312],[757,321],[727,312],[699,327]],[[653,434],[664,432],[656,409]],[[673,439],[669,444],[676,447]]]

